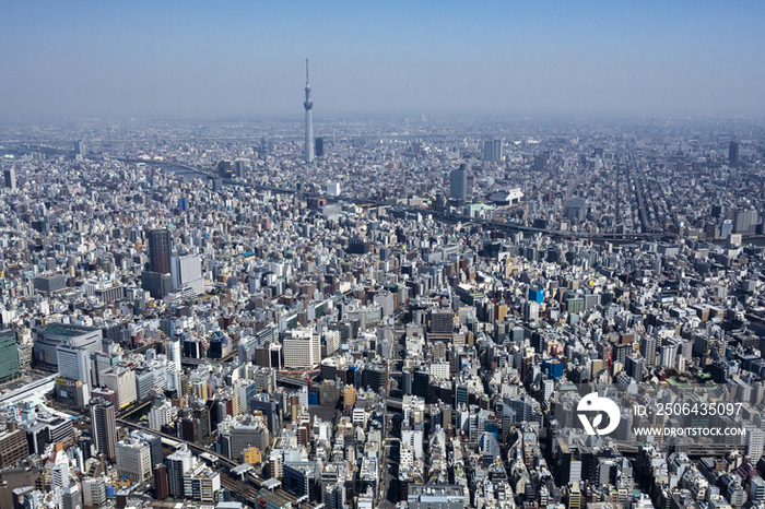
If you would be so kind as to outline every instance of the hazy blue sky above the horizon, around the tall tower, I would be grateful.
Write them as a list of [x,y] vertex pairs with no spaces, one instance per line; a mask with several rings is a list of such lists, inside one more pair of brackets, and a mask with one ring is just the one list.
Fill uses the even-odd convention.
[[765,2],[2,1],[0,116],[765,116]]

